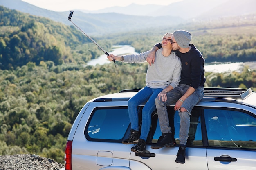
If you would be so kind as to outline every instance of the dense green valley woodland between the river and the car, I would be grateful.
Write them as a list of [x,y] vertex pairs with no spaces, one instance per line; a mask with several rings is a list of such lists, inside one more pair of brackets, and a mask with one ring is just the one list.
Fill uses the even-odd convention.
[[[118,61],[117,61],[118,62]],[[65,142],[83,105],[121,89],[142,88],[147,64],[118,62],[87,66],[56,66],[52,61],[16,70],[0,70],[0,155],[35,153],[63,163]],[[205,87],[256,90],[256,70],[206,73]]]

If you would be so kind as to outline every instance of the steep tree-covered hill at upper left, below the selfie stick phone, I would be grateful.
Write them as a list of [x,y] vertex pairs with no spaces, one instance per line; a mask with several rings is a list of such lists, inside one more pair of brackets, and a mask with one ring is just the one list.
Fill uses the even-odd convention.
[[[90,43],[88,43],[90,42]],[[75,48],[83,44],[90,48],[80,57],[81,51]],[[53,22],[47,18],[35,17],[9,10],[0,6],[0,69],[15,69],[18,66],[40,61],[53,61],[55,65],[89,61],[101,51],[91,46],[90,39],[74,26]],[[110,45],[103,43],[104,48]]]

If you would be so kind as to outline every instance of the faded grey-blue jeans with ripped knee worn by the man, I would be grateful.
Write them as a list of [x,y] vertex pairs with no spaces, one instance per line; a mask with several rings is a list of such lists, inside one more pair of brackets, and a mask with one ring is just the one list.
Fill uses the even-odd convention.
[[[159,100],[155,99],[155,105],[157,108],[158,120],[160,124],[160,129],[162,133],[171,133],[171,127],[169,126],[169,118],[167,113],[168,105],[174,104],[177,100],[183,96],[186,91],[189,89],[189,85],[178,85],[173,90],[167,93],[166,102],[162,101],[162,98]],[[187,111],[181,112],[179,110],[180,116],[180,144],[186,145],[186,141],[189,137],[189,124],[191,110],[193,107],[203,98],[204,88],[198,87],[193,94],[191,94],[186,100],[182,103],[181,107],[184,107]]]

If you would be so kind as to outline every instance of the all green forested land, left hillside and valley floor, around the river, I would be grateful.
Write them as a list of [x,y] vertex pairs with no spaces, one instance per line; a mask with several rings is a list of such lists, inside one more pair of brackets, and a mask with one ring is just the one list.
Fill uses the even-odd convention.
[[[242,22],[241,22],[242,23]],[[209,61],[255,61],[255,23],[181,26]],[[105,50],[144,52],[175,28],[93,37]],[[0,155],[35,153],[63,163],[65,142],[85,103],[145,85],[147,63],[86,66],[103,54],[74,26],[0,7]],[[256,90],[256,70],[206,74],[206,87]]]

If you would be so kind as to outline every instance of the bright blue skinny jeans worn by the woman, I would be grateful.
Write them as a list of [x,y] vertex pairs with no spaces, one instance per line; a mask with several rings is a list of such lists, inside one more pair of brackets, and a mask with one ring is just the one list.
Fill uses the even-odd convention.
[[135,96],[128,100],[128,112],[132,129],[139,131],[139,116],[137,107],[146,102],[142,109],[142,126],[140,139],[147,140],[151,126],[151,114],[155,111],[155,98],[163,89],[144,87]]

